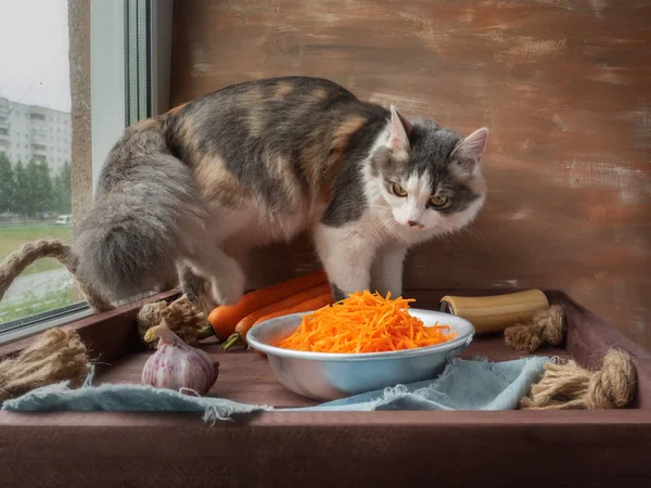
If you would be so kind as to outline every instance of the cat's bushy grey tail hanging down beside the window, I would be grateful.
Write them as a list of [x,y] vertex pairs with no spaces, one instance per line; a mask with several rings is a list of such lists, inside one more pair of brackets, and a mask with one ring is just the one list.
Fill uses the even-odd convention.
[[112,300],[168,283],[202,239],[205,214],[190,169],[162,141],[148,144],[113,150],[98,197],[75,227],[77,273]]

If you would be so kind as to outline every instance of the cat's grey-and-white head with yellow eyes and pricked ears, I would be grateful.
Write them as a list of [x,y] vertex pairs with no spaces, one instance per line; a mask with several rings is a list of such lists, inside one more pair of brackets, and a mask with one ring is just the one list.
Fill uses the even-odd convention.
[[412,124],[391,107],[391,126],[370,159],[375,193],[406,231],[455,231],[482,208],[481,158],[488,130],[462,138],[424,120]]

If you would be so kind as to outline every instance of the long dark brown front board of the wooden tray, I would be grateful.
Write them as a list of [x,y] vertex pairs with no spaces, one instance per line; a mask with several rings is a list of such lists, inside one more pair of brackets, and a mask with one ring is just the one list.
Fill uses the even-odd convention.
[[286,412],[209,426],[2,412],[2,486],[647,488],[643,413]]

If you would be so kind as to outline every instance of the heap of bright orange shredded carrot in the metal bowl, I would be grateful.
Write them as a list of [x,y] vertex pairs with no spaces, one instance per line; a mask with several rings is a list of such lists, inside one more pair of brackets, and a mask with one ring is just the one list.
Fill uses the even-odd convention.
[[391,299],[368,291],[350,294],[304,316],[296,331],[279,347],[312,352],[383,352],[414,349],[451,341],[449,325],[425,326],[409,314],[413,299]]

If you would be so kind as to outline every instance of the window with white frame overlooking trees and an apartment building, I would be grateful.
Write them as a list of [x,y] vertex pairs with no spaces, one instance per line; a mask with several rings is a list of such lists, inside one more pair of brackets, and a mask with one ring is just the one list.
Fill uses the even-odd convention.
[[[3,140],[12,147],[24,145],[7,156],[9,164],[0,152],[0,260],[25,242],[68,241],[71,226],[56,224],[56,219],[84,211],[72,208],[73,195],[75,202],[89,200],[84,195],[92,193],[106,154],[127,125],[167,110],[171,0],[90,0],[86,26],[76,25],[87,17],[74,10],[75,4],[0,1],[0,46],[10,47],[3,51],[0,76],[0,107],[4,98],[10,110],[9,138]],[[86,39],[69,37],[78,31],[90,33],[90,65],[84,56],[68,59],[68,51],[75,51],[69,48],[79,50]],[[72,93],[71,74],[78,76]],[[85,85],[87,79],[90,86]],[[76,107],[88,112],[72,113]],[[78,126],[73,127],[73,120],[90,120],[91,137],[76,137],[73,129]],[[18,141],[21,133],[25,139]],[[90,150],[91,160],[76,158],[76,147],[82,153]],[[73,184],[73,167],[91,172],[92,182]],[[35,182],[38,191],[20,191],[21,185],[35,187]],[[22,197],[13,198],[14,194]],[[27,194],[39,198],[29,200]],[[88,313],[68,272],[58,261],[41,259],[14,281],[0,301],[0,343]]]

